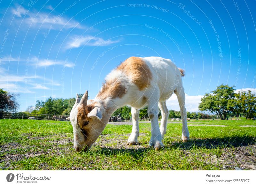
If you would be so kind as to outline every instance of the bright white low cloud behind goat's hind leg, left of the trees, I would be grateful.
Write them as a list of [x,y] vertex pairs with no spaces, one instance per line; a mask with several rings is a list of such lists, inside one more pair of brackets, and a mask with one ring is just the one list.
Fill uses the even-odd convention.
[[[189,112],[199,112],[198,105],[201,102],[201,98],[204,97],[203,95],[197,95],[197,96],[190,96],[188,94],[185,94],[186,101],[185,101],[185,107],[187,111]],[[180,110],[178,98],[176,94],[173,94],[168,100],[166,100],[166,105],[168,110]]]

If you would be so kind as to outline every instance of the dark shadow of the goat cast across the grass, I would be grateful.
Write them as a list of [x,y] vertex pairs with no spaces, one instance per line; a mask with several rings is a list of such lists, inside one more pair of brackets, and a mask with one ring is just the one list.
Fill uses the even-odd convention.
[[[209,139],[190,139],[188,142],[172,142],[167,144],[165,143],[164,149],[183,149],[183,150],[190,150],[193,148],[207,148],[207,149],[216,149],[216,148],[231,148],[231,147],[241,147],[241,146],[248,146],[256,144],[256,137],[250,136],[240,136],[240,137],[227,137],[227,138],[209,138]],[[128,153],[132,155],[134,158],[138,158],[138,156],[143,155],[143,152],[152,150],[152,147],[145,147],[145,148],[112,148],[112,147],[100,147],[97,153],[104,154],[106,156],[109,155],[117,155],[121,153]]]

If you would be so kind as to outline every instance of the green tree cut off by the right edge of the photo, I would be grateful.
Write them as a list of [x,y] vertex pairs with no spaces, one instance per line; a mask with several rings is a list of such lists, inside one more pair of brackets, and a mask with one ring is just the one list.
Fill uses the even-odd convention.
[[256,97],[250,90],[248,93],[242,91],[235,94],[236,96],[236,113],[240,113],[251,119],[256,112]]

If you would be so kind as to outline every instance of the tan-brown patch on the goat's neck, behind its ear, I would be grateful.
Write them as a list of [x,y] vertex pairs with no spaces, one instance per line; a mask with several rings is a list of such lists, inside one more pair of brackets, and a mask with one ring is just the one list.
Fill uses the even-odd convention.
[[98,93],[97,97],[104,100],[108,97],[110,98],[121,98],[125,93],[125,87],[120,81],[111,80],[105,81],[103,83],[100,92]]

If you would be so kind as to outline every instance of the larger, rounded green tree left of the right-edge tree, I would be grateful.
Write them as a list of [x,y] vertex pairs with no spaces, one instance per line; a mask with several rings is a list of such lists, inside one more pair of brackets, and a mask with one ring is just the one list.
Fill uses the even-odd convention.
[[220,85],[211,93],[206,93],[198,108],[200,111],[210,111],[217,114],[221,120],[234,110],[235,89],[232,86]]

